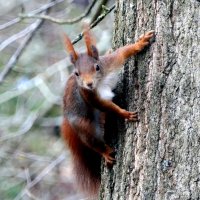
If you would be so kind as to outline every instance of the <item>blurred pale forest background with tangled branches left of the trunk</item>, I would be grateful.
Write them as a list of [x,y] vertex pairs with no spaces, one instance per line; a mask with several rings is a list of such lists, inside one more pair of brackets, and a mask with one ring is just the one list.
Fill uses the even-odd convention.
[[[62,34],[76,39],[84,21],[93,23],[103,54],[111,46],[113,4],[0,0],[0,200],[83,199],[59,131],[63,90],[72,70]],[[83,41],[75,48],[84,51]]]

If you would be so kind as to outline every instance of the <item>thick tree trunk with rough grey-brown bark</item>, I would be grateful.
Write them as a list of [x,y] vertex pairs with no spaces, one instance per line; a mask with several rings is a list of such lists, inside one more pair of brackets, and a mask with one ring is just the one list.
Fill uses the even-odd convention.
[[129,59],[116,101],[138,123],[108,117],[116,163],[102,167],[102,200],[200,199],[200,3],[117,0],[113,44],[148,30],[155,42]]

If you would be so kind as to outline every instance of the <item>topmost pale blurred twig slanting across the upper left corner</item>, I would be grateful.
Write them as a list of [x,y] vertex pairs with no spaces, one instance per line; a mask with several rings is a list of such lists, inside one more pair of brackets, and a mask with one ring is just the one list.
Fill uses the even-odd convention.
[[[46,5],[43,5],[41,6],[40,8],[36,9],[36,10],[33,10],[32,12],[30,12],[30,14],[38,14],[38,13],[41,13],[55,5],[57,5],[58,3],[62,3],[64,0],[55,0],[53,2],[50,2]],[[5,24],[1,24],[0,25],[0,31],[1,30],[4,30],[6,28],[9,28],[10,26],[14,25],[14,24],[17,24],[19,23],[20,21],[22,21],[22,18],[21,17],[17,17],[9,22],[6,22]]]

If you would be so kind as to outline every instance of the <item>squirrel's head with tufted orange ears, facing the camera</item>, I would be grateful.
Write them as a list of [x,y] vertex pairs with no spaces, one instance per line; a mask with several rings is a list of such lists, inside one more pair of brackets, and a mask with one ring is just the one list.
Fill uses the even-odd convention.
[[99,60],[98,50],[88,27],[85,28],[83,35],[87,53],[77,54],[67,35],[64,35],[65,47],[70,55],[71,63],[74,65],[74,76],[76,76],[78,85],[88,90],[94,90],[104,72]]

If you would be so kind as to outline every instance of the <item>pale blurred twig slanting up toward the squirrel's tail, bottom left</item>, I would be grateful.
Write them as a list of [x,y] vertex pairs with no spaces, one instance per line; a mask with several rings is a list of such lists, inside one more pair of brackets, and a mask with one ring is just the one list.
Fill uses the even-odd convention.
[[42,172],[15,197],[14,200],[19,200],[21,199],[25,194],[26,191],[34,187],[36,184],[38,184],[54,167],[59,165],[61,162],[64,161],[65,159],[65,153],[62,153],[56,160],[52,161],[50,165],[48,165],[46,168],[42,170]]

